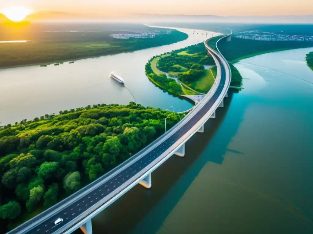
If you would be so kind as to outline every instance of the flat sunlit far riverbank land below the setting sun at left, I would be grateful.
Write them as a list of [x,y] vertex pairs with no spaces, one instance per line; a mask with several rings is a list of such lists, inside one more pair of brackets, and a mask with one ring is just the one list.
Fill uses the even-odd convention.
[[[168,34],[168,29],[144,25],[120,24],[116,26],[117,29],[107,24],[101,25],[103,28],[88,24],[80,27],[74,24],[58,27],[47,25],[37,26],[31,32],[9,32],[9,37],[4,33],[0,35],[0,41],[27,40],[27,42],[1,43],[0,67],[39,65],[130,52],[175,43],[188,37],[187,34],[176,30],[171,30]],[[111,34],[156,30],[160,31],[160,34],[156,34],[153,38],[117,39],[110,37]],[[30,54],[32,56],[29,56]]]

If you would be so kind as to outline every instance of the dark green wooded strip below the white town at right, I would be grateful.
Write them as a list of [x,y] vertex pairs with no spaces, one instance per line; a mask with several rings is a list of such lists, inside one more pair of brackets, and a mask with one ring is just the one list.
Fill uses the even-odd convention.
[[232,63],[264,53],[312,46],[313,42],[308,41],[258,41],[233,36],[231,41],[218,42],[218,49],[226,60]]

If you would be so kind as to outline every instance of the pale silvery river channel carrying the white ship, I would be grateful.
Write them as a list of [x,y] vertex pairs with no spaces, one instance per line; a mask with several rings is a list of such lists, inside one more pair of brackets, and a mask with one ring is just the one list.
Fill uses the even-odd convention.
[[[125,86],[136,102],[144,106],[184,111],[192,103],[156,88],[146,77],[147,61],[164,52],[203,42],[212,32],[179,29],[189,35],[185,41],[150,49],[68,62],[59,66],[25,66],[0,69],[0,122],[14,124],[60,110],[93,104],[128,104],[134,101],[130,92],[109,77],[114,72],[125,80]],[[208,32],[208,37],[206,33]],[[204,33],[204,35],[202,35]]]

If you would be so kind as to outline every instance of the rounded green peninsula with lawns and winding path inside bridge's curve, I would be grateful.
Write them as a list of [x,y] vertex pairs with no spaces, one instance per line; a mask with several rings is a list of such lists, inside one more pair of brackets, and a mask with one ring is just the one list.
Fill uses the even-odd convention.
[[[214,60],[207,56],[204,44],[199,43],[154,56],[146,64],[146,75],[152,82],[170,93],[197,95],[197,92],[208,92],[215,79],[212,71],[205,69],[204,65],[214,65]],[[175,79],[168,78],[165,73]]]

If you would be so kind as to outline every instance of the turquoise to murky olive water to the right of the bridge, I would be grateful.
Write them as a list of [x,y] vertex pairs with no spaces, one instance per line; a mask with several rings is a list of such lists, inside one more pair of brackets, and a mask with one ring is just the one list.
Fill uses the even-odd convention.
[[309,51],[235,64],[244,89],[187,142],[184,158],[152,173],[151,189],[137,185],[94,217],[93,233],[313,233]]

